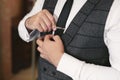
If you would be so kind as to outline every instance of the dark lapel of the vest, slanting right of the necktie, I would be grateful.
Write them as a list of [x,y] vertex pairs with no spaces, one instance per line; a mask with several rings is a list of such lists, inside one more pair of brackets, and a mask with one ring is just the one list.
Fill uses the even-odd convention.
[[81,25],[84,23],[88,15],[92,12],[96,4],[100,0],[88,0],[85,5],[76,14],[72,22],[70,23],[66,32],[62,35],[62,40],[65,46],[67,46],[78,32]]

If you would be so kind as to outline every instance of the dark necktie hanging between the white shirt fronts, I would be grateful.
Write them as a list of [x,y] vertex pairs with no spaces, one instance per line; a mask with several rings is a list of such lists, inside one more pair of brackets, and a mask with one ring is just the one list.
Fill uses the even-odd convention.
[[[65,28],[66,21],[68,19],[72,4],[73,4],[73,0],[67,0],[66,1],[65,5],[64,5],[64,7],[63,7],[63,9],[60,13],[60,16],[58,18],[58,21],[56,23],[56,25],[58,27]],[[63,34],[63,31],[64,31],[63,29],[57,29],[55,31],[55,34],[61,36]]]

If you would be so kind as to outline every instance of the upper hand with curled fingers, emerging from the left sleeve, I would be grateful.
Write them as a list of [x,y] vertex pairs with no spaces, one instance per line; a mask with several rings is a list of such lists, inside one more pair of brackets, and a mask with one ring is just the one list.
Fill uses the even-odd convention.
[[37,29],[40,32],[49,32],[56,29],[55,19],[46,9],[29,17],[26,20],[25,25],[30,30]]

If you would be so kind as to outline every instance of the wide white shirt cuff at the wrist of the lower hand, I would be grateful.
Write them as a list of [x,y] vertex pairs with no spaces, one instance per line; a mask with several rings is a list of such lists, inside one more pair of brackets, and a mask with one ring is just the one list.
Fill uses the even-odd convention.
[[76,80],[80,75],[79,73],[81,72],[83,65],[83,61],[64,53],[57,66],[57,70]]

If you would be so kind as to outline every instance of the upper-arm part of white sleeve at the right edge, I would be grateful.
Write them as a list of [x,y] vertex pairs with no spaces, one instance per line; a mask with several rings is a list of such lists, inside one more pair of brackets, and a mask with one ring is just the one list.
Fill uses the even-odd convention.
[[106,23],[104,40],[110,53],[111,66],[120,71],[120,0],[115,0]]

